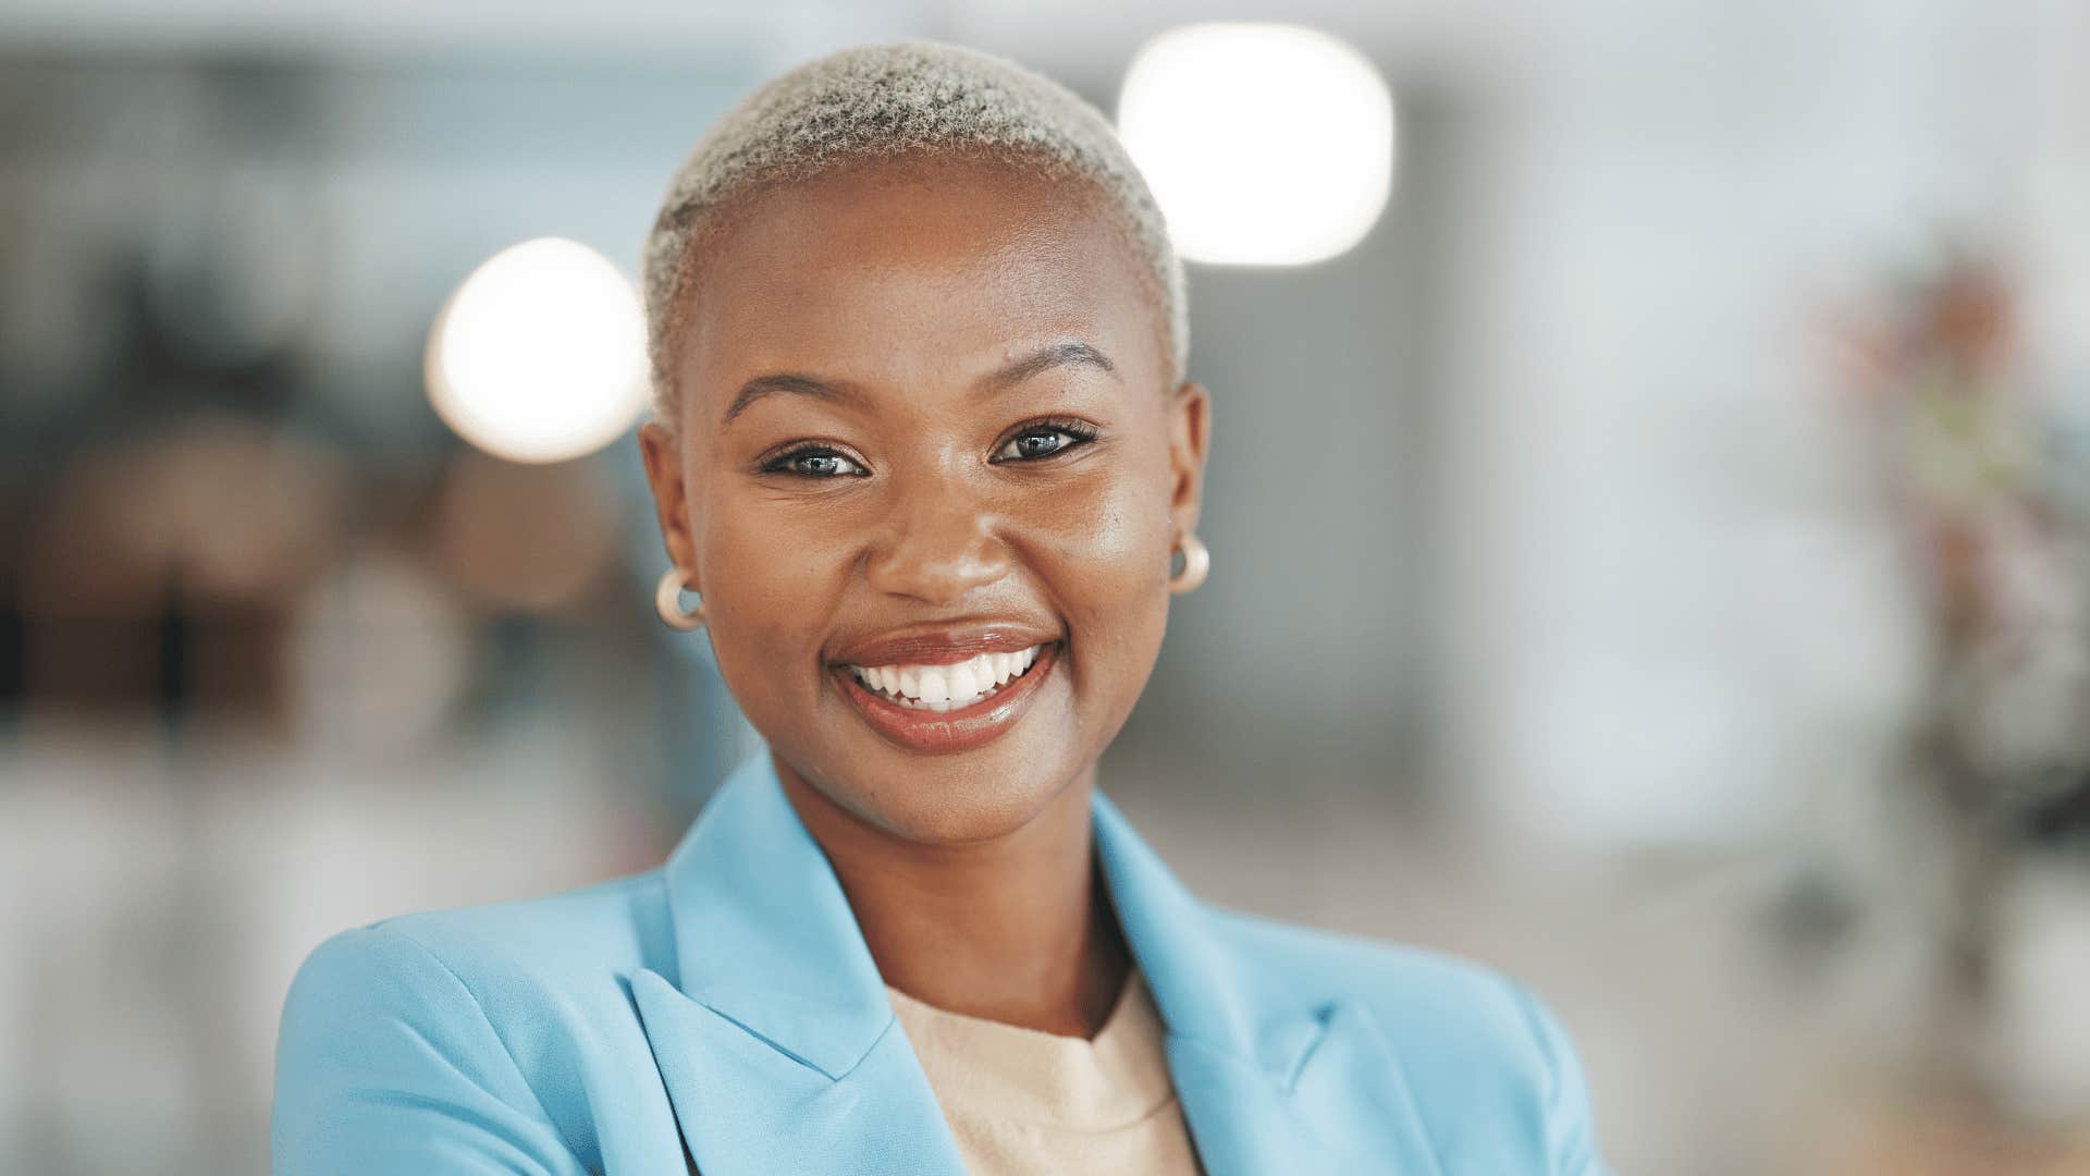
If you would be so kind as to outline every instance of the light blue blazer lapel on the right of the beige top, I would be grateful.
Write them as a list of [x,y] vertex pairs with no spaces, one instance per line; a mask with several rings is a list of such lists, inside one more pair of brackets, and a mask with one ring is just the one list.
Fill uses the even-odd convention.
[[1231,944],[1101,793],[1095,841],[1168,1025],[1168,1071],[1208,1176],[1442,1176],[1407,1076],[1363,1004],[1323,1000]]

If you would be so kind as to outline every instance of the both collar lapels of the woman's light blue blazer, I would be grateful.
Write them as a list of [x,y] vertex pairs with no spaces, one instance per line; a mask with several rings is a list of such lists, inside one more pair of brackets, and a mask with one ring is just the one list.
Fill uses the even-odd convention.
[[[1206,1170],[1323,1170],[1336,1157],[1327,1147],[1352,1126],[1329,1115],[1354,1113],[1342,1107],[1363,1090],[1375,1163],[1407,1155],[1396,1172],[1436,1172],[1398,1065],[1363,1009],[1264,979],[1101,793],[1093,820]],[[642,971],[631,992],[706,1176],[963,1172],[842,885],[784,797],[767,747],[711,797],[665,879],[679,975]],[[1315,1069],[1348,1071],[1340,1107],[1302,1099]],[[876,1155],[890,1168],[861,1147],[821,1151],[844,1138],[886,1140]]]

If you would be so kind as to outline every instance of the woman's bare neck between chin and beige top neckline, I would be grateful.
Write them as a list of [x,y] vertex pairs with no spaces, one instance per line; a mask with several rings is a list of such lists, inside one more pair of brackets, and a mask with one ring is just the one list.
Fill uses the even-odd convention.
[[924,845],[878,829],[777,764],[784,793],[834,864],[886,983],[1045,1034],[1093,1038],[1131,967],[1095,868],[1095,768],[1020,829]]

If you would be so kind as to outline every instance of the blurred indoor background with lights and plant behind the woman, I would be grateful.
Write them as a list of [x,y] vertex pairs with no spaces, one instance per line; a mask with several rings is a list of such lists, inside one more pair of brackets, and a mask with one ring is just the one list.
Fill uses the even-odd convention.
[[750,737],[640,243],[892,36],[1193,259],[1214,575],[1104,764],[1193,889],[1528,979],[1620,1172],[2090,1172],[2067,0],[10,0],[0,1170],[261,1172],[320,940],[673,845]]

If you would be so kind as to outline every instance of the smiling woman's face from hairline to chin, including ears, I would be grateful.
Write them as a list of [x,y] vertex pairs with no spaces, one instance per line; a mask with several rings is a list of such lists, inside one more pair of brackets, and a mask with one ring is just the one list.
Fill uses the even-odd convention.
[[744,201],[686,297],[642,448],[734,699],[861,820],[1024,824],[1139,699],[1198,517],[1206,393],[1120,224],[995,163],[861,163]]

